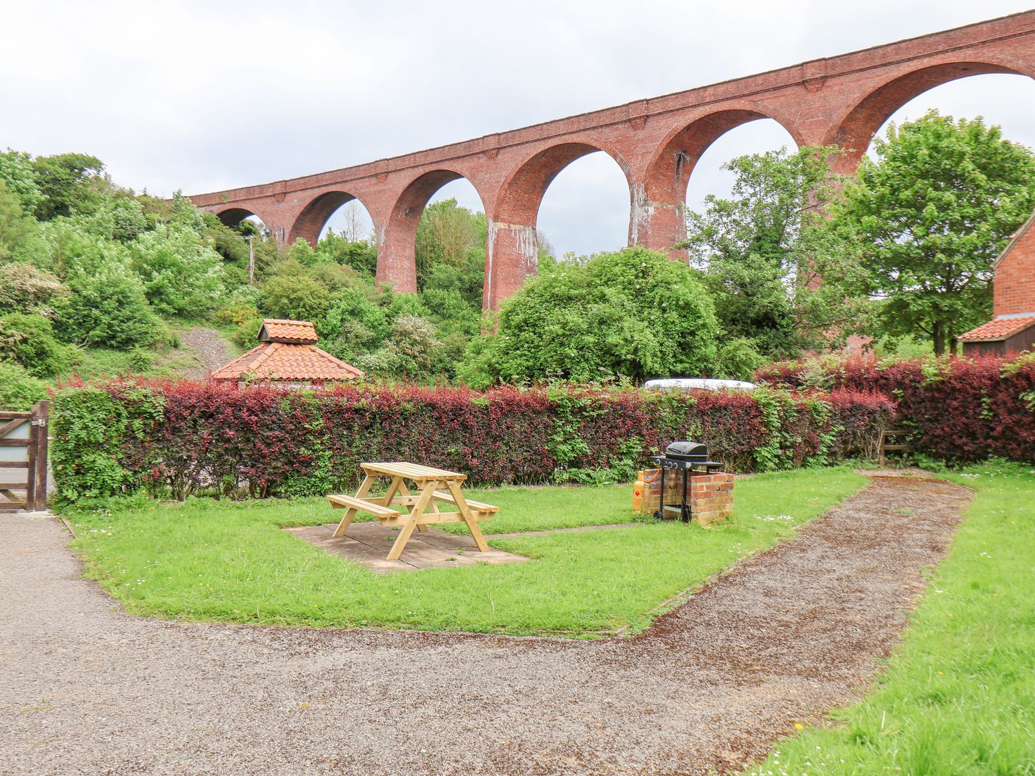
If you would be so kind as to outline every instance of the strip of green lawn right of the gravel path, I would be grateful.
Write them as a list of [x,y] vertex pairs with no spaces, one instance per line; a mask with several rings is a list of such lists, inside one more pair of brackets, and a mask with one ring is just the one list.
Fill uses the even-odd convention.
[[879,686],[750,774],[1035,774],[1035,472],[977,490]]

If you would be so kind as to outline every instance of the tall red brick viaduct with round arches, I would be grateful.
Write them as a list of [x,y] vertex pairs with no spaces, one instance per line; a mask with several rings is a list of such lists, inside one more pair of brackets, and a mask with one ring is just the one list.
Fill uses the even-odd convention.
[[1035,10],[778,70],[628,102],[389,159],[291,180],[197,195],[236,223],[262,219],[282,242],[315,243],[331,214],[359,200],[378,239],[377,279],[416,291],[417,220],[443,185],[466,178],[489,218],[483,303],[497,307],[536,271],[535,225],[551,181],[574,159],[611,155],[629,186],[629,244],[668,250],[685,234],[686,185],[722,133],[774,119],[800,145],[846,149],[854,170],[899,107],[955,79],[1006,72],[1035,78]]

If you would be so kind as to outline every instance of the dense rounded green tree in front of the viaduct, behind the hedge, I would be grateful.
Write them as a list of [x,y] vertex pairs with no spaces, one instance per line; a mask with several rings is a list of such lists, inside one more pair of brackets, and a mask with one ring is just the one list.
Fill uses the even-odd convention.
[[560,263],[503,303],[460,375],[494,380],[644,380],[710,370],[718,322],[693,270],[641,247]]

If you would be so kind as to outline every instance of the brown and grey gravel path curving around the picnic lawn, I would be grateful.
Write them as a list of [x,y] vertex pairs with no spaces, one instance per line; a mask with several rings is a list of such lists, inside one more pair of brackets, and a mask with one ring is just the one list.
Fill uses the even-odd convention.
[[736,770],[865,688],[969,499],[875,478],[645,635],[589,641],[135,619],[55,521],[0,516],[0,772]]

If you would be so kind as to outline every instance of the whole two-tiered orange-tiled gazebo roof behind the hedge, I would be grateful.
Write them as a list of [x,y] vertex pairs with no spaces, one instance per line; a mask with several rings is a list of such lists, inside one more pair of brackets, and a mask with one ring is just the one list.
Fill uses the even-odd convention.
[[213,371],[212,379],[323,383],[363,377],[360,369],[317,348],[317,330],[309,321],[267,318],[259,329],[259,341]]

